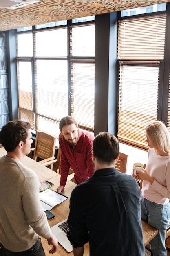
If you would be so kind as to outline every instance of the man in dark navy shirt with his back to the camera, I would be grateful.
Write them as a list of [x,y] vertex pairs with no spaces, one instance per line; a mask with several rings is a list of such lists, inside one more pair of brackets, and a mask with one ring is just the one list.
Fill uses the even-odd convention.
[[135,179],[115,169],[119,141],[99,133],[93,141],[94,175],[71,193],[67,236],[74,256],[89,241],[90,256],[144,256],[140,190]]

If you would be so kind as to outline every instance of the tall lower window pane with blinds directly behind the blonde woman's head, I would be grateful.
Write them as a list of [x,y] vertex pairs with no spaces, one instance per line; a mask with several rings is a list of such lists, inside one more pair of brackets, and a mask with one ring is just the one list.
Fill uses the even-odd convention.
[[148,148],[145,127],[157,120],[158,76],[158,66],[121,66],[118,117],[121,141]]

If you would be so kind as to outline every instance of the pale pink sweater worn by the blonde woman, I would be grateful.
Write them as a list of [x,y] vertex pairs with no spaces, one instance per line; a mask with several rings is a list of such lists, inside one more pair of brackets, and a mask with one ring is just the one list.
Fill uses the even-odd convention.
[[143,180],[142,195],[157,204],[170,200],[170,156],[157,155],[153,148],[148,150],[147,173],[154,178],[152,185]]

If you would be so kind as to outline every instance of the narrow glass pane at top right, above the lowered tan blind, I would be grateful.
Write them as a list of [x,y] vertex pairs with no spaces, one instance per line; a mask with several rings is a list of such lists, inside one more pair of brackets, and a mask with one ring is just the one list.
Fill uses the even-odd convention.
[[144,13],[152,13],[156,11],[166,11],[166,3],[153,4],[150,6],[143,6],[143,7],[123,10],[121,11],[121,17],[144,14]]

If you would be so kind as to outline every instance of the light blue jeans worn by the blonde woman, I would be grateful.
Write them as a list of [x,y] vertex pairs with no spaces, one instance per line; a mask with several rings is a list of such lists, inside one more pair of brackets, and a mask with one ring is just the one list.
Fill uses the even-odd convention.
[[141,219],[159,230],[155,238],[150,241],[150,248],[154,256],[166,256],[166,229],[170,220],[170,203],[156,204],[141,195]]

